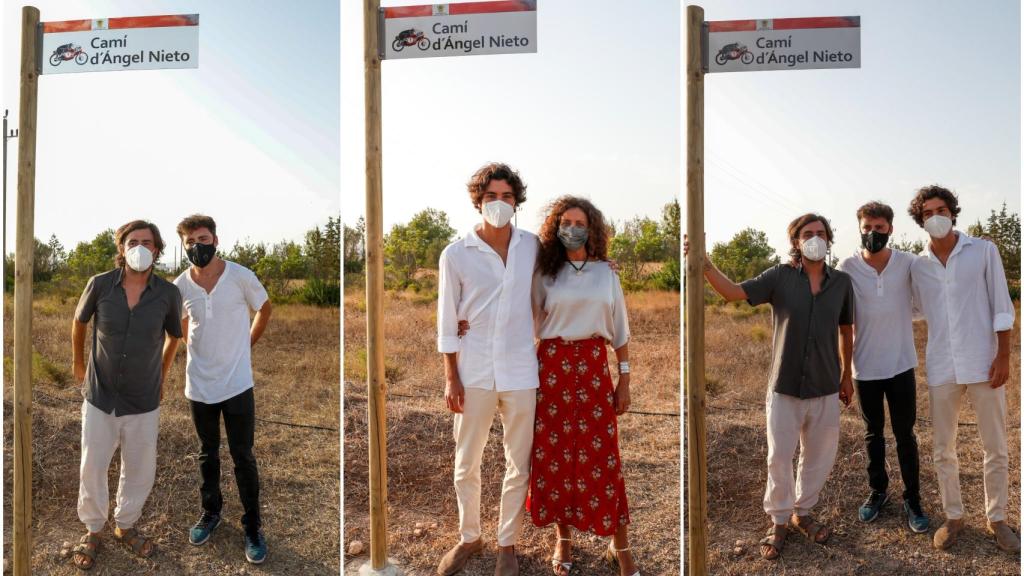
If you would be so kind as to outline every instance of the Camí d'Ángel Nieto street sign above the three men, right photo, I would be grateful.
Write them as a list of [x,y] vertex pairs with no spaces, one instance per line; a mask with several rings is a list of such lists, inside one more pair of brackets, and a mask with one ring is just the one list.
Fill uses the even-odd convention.
[[708,23],[708,72],[860,68],[860,16]]

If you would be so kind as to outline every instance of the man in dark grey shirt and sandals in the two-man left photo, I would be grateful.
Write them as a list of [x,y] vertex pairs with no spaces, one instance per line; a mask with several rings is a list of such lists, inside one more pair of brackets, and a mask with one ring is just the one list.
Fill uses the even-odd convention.
[[[181,337],[181,294],[154,274],[164,250],[160,230],[133,220],[115,234],[117,268],[94,276],[82,292],[72,322],[75,378],[83,382],[82,464],[78,516],[88,533],[75,546],[74,563],[95,564],[106,524],[106,476],[121,448],[121,482],[114,509],[114,538],[147,558],[153,542],[135,530],[157,471],[157,435],[163,382]],[[92,349],[85,338],[93,322]]]

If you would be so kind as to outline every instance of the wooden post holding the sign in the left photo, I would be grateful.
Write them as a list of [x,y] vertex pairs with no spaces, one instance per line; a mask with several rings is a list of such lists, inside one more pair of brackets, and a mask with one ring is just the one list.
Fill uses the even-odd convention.
[[[14,237],[14,574],[32,573],[32,268],[36,204],[39,10],[22,8],[22,96]],[[6,135],[6,134],[5,134]]]

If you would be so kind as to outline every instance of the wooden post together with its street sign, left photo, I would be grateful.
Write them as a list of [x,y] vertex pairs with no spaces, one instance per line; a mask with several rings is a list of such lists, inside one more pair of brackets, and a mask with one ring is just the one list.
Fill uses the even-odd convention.
[[[41,74],[198,68],[199,14],[42,23],[39,9],[22,8],[20,95],[17,140],[17,205],[14,232],[14,522],[13,573],[32,573],[32,272],[36,209],[36,117]],[[153,32],[153,31],[158,32]],[[145,46],[137,56],[127,46],[94,48],[108,36]],[[168,38],[174,36],[173,41]],[[125,40],[127,43],[127,40]],[[104,44],[105,45],[105,44]],[[52,52],[44,54],[44,46]],[[173,50],[165,48],[171,47]],[[182,55],[185,55],[182,59]],[[45,56],[45,58],[44,58]],[[95,58],[95,61],[93,61]],[[104,59],[117,60],[108,66]],[[62,66],[62,68],[61,68]],[[4,134],[6,138],[7,134]],[[6,205],[6,202],[5,202]]]

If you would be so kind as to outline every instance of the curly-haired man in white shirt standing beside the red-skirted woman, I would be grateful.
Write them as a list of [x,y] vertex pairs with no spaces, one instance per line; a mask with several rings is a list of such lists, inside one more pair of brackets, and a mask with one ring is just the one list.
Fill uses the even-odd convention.
[[[508,576],[519,573],[514,545],[528,488],[539,386],[530,314],[538,239],[510,223],[526,200],[518,172],[487,164],[473,174],[468,189],[483,222],[450,244],[438,265],[437,351],[444,355],[444,401],[455,413],[461,541],[441,559],[437,573],[458,573],[483,547],[480,460],[498,412],[506,472],[495,574]],[[473,327],[462,338],[460,321]]]

